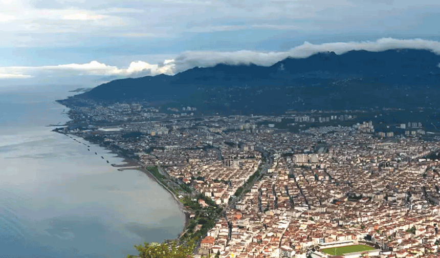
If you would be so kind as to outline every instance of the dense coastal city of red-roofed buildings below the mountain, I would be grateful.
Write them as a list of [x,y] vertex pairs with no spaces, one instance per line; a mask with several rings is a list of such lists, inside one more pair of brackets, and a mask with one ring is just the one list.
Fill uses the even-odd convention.
[[436,134],[422,121],[378,131],[363,113],[94,104],[56,131],[154,176],[182,204],[195,257],[438,257]]

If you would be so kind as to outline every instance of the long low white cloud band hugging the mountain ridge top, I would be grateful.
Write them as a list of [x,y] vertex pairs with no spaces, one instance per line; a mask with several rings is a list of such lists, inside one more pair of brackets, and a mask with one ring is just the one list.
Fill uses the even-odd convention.
[[46,76],[116,76],[123,78],[128,76],[140,77],[146,75],[168,74],[191,69],[193,67],[212,67],[218,63],[229,65],[254,63],[260,66],[271,66],[277,61],[287,57],[305,58],[313,54],[325,51],[334,51],[343,54],[350,50],[384,51],[389,49],[424,49],[440,55],[440,42],[423,39],[394,39],[381,38],[376,41],[350,41],[333,42],[320,45],[304,42],[285,52],[257,52],[240,50],[234,52],[216,51],[186,51],[172,59],[165,59],[157,64],[146,61],[132,61],[126,68],[106,65],[99,61],[89,63],[70,63],[58,66],[41,67],[3,67],[0,68],[0,78],[30,78],[37,75]]

